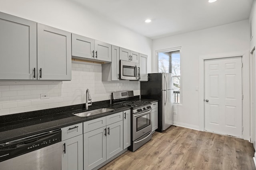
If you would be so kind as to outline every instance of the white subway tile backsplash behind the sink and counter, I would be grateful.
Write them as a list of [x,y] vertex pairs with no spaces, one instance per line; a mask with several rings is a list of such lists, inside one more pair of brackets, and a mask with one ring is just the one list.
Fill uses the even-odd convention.
[[[0,85],[0,115],[82,104],[87,88],[93,102],[110,100],[112,92],[121,90],[134,90],[134,95],[140,95],[139,82],[102,82],[101,71],[101,64],[72,61],[71,81]],[[40,99],[43,93],[50,98]]]

